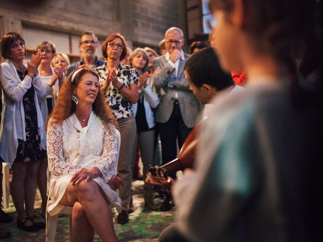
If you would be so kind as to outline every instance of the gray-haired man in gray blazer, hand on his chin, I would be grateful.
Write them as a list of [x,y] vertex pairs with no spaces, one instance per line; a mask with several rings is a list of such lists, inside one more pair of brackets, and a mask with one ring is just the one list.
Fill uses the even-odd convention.
[[[155,111],[159,123],[163,164],[176,158],[179,148],[199,121],[203,105],[199,103],[185,79],[184,64],[188,57],[182,50],[183,31],[177,27],[165,33],[166,54],[153,61],[153,83],[160,103]],[[171,175],[175,178],[175,174]],[[170,210],[172,204],[163,203],[160,210]]]

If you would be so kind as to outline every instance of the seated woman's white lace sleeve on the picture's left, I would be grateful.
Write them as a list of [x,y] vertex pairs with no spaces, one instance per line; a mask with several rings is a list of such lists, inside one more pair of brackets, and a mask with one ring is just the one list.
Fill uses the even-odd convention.
[[47,127],[47,158],[48,169],[55,176],[74,173],[82,168],[66,162],[63,152],[62,125],[52,124],[50,120]]

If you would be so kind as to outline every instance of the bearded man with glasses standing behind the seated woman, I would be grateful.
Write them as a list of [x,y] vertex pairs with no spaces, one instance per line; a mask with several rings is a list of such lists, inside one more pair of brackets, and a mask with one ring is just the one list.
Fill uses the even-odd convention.
[[91,69],[102,66],[104,62],[96,56],[97,46],[98,40],[96,35],[92,31],[83,32],[79,40],[81,60],[70,66],[67,70],[67,76],[82,66],[87,66]]

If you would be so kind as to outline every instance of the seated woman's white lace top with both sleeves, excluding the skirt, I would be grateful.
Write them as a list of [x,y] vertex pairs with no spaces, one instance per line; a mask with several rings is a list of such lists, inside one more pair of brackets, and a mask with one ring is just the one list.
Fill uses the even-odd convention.
[[[49,120],[47,129],[49,171],[53,176],[62,176],[73,174],[89,165],[96,166],[107,183],[113,174],[117,174],[116,128],[111,123],[104,125],[93,112],[88,126],[84,128],[74,113],[64,120],[62,125],[53,124],[52,120]],[[94,163],[80,163],[79,160],[84,155],[91,156]]]

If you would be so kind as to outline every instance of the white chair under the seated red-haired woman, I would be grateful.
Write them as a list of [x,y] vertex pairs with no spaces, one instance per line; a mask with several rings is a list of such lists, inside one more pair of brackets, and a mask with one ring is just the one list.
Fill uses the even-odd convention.
[[[116,136],[117,136],[117,150],[118,150],[118,155],[117,155],[117,162],[119,159],[119,151],[120,151],[120,142],[121,142],[121,134],[119,132],[119,130],[116,130]],[[47,206],[48,206],[48,201],[49,201],[49,197],[47,200]],[[70,228],[70,238],[72,235],[72,210],[73,210],[73,206],[65,206],[65,205],[57,205],[60,206],[62,208],[62,211],[60,213],[62,214],[68,214],[69,216],[69,228]],[[46,242],[54,242],[55,241],[55,235],[56,235],[56,228],[57,228],[57,222],[59,220],[59,214],[50,216],[47,212],[47,208],[46,207],[46,230],[45,230],[45,234],[46,234]]]

